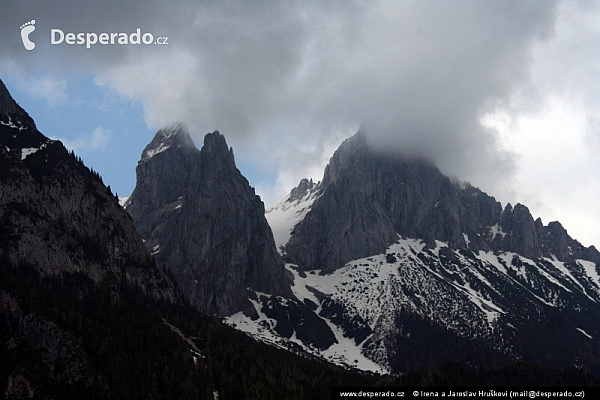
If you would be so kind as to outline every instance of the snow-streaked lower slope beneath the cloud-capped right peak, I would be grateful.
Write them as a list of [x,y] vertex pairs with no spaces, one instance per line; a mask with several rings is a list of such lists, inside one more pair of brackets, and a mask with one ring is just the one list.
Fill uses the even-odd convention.
[[[403,322],[406,314],[507,359],[550,353],[557,341],[569,353],[571,345],[590,345],[599,334],[597,267],[585,260],[566,263],[510,252],[474,253],[442,242],[427,249],[421,240],[399,237],[385,253],[351,261],[325,275],[299,271],[293,264],[286,268],[294,275],[297,302],[258,294],[253,301],[258,318],[239,312],[226,322],[260,340],[342,366],[374,372],[402,369],[397,360],[404,349],[399,343],[424,335]],[[274,302],[289,314],[298,304],[308,305],[331,329],[334,342],[319,348],[300,340],[296,329],[306,323],[302,318],[297,327],[281,334],[281,322],[267,315]],[[551,331],[548,326],[556,315],[575,323],[565,322]],[[539,349],[528,348],[531,341]],[[565,357],[578,362],[572,354]]]

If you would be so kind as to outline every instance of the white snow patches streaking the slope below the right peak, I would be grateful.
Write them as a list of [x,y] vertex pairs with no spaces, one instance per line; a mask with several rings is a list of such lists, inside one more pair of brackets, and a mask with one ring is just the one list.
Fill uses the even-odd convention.
[[[568,304],[564,296],[576,292],[593,302],[600,299],[600,275],[592,262],[565,265],[555,257],[531,260],[512,252],[474,253],[451,249],[442,241],[435,244],[428,248],[420,239],[399,236],[384,253],[351,261],[327,274],[286,264],[294,277],[293,295],[301,303],[316,305],[314,313],[335,336],[336,343],[324,350],[304,344],[295,332],[288,339],[279,336],[274,330],[277,321],[261,311],[260,302],[253,302],[258,319],[237,313],[226,321],[273,345],[293,345],[338,365],[384,372],[389,369],[386,338],[397,334],[396,316],[402,311],[510,352],[503,335],[516,329],[515,321],[531,318],[530,311],[521,309],[523,304],[531,309],[540,305],[561,309]],[[511,291],[506,292],[506,287]],[[518,306],[513,296],[519,296]],[[327,313],[321,311],[327,302],[340,305],[342,311],[324,317]],[[357,318],[370,328],[360,339],[348,328],[348,322]]]

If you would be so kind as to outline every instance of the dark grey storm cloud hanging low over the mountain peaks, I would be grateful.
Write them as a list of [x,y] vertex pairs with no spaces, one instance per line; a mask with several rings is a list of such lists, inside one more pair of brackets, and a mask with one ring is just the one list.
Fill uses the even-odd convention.
[[[479,118],[528,79],[531,44],[554,22],[554,4],[540,1],[2,7],[0,35],[10,38],[0,44],[5,65],[39,73],[43,52],[48,74],[92,73],[141,100],[152,127],[181,119],[199,133],[220,129],[265,168],[307,172],[321,162],[329,138],[364,123],[374,144],[475,180],[512,170],[513,157]],[[88,50],[37,36],[39,48],[25,52],[15,31],[31,18],[38,35],[141,28],[168,36],[169,45]]]

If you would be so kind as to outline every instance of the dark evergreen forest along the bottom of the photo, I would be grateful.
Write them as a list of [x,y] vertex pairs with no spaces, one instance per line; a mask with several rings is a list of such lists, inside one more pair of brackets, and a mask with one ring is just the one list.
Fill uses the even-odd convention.
[[158,302],[124,283],[115,292],[82,274],[40,277],[30,266],[2,264],[0,289],[20,299],[24,315],[47,318],[73,335],[88,368],[101,377],[91,385],[61,380],[24,341],[8,346],[19,321],[0,308],[2,393],[16,368],[37,386],[36,397],[65,399],[212,399],[215,391],[219,399],[326,399],[332,387],[350,386],[600,385],[597,376],[576,368],[527,362],[502,368],[448,363],[400,376],[349,371],[257,342],[188,304]]

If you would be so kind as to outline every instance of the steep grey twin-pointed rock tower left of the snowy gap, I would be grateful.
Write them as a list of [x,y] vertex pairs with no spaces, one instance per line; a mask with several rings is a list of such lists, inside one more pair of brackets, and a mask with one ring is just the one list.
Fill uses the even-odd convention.
[[219,132],[196,149],[180,124],[157,132],[125,205],[146,246],[199,310],[250,310],[255,291],[290,295],[264,205]]

